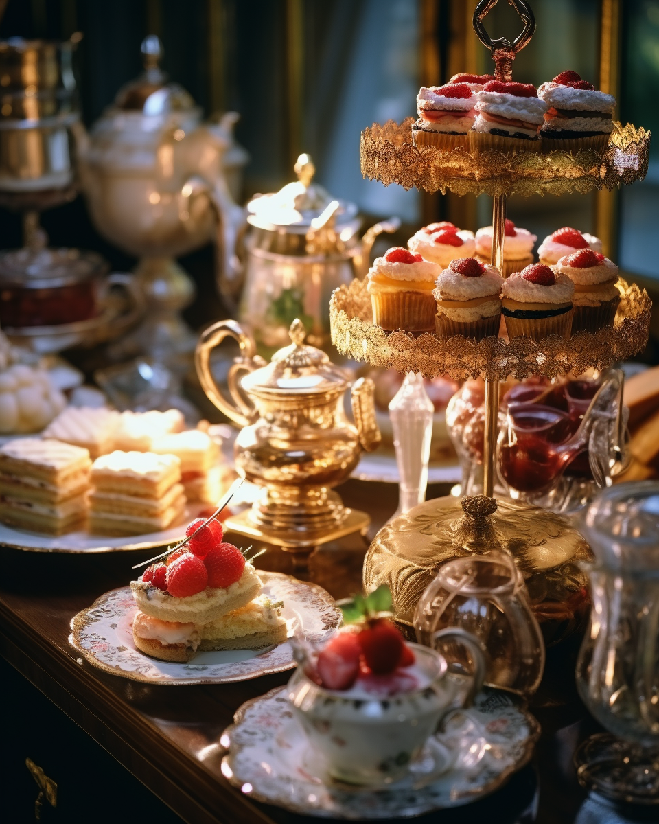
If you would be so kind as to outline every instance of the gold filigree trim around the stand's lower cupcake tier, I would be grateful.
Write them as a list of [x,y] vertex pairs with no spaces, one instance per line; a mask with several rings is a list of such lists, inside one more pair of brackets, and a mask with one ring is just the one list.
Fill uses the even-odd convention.
[[517,337],[510,342],[494,337],[474,341],[456,335],[442,341],[431,332],[415,337],[374,325],[367,284],[354,279],[332,294],[332,343],[353,360],[399,372],[421,372],[428,378],[447,375],[457,381],[479,376],[505,380],[512,375],[521,380],[537,374],[581,374],[630,358],[647,344],[652,301],[636,283],[629,285],[621,279],[619,287],[622,297],[615,323],[596,335],[578,332],[568,340],[549,335],[540,341]]

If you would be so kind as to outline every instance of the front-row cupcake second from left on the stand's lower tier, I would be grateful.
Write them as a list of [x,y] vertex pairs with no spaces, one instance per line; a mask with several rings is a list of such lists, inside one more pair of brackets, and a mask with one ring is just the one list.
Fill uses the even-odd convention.
[[433,293],[437,300],[437,335],[442,339],[465,335],[477,340],[498,335],[502,283],[494,266],[475,258],[451,260],[437,278]]

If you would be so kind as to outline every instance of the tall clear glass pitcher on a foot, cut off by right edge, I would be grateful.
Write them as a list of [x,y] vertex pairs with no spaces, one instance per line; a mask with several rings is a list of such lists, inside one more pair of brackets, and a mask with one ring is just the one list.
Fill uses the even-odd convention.
[[582,532],[596,560],[577,687],[612,734],[582,744],[577,775],[610,798],[659,804],[659,483],[606,489]]

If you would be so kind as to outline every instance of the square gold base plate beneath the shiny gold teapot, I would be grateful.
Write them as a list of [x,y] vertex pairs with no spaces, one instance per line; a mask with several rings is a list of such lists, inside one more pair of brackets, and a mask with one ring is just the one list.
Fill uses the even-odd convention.
[[336,523],[324,527],[322,531],[277,530],[255,523],[252,510],[246,509],[238,515],[231,515],[223,526],[226,532],[236,532],[245,538],[281,547],[284,552],[291,554],[296,574],[304,574],[308,571],[309,559],[320,546],[353,535],[354,532],[359,532],[364,541],[368,542],[371,517],[361,509],[345,507]]

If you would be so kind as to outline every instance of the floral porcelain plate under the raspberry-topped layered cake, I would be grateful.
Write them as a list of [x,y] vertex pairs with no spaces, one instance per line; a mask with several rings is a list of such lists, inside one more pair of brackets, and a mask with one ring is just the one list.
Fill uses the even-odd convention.
[[[259,571],[259,577],[261,594],[284,602],[289,637],[297,632],[321,642],[341,623],[341,611],[324,589],[281,573]],[[129,587],[105,592],[72,619],[69,643],[95,667],[147,684],[227,684],[295,666],[288,643],[197,653],[189,663],[158,661],[135,648],[132,627],[137,609]]]

